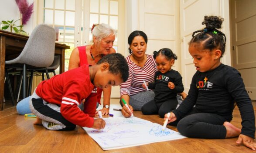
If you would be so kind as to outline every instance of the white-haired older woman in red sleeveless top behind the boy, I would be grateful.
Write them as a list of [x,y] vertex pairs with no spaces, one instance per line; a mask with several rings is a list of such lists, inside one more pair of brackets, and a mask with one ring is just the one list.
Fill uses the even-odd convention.
[[[80,67],[84,64],[95,65],[104,55],[116,53],[113,43],[116,39],[116,30],[105,23],[92,26],[92,44],[76,47],[72,50],[69,59],[68,70]],[[95,92],[95,91],[94,91]],[[97,89],[98,103],[100,104],[102,89]],[[103,89],[102,115],[109,114],[111,87]],[[91,99],[95,100],[95,99]]]

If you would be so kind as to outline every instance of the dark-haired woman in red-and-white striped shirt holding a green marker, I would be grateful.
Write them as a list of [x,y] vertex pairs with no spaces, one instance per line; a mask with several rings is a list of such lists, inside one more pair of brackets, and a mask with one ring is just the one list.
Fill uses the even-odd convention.
[[[146,90],[141,85],[143,80],[147,83],[154,81],[154,75],[157,71],[157,65],[152,55],[146,54],[147,35],[143,31],[133,31],[128,37],[129,53],[126,61],[129,66],[128,80],[120,84],[120,104],[123,106],[122,99],[126,101],[130,110],[139,110],[141,107],[154,100],[155,94],[153,90]],[[183,98],[185,93],[181,93]],[[131,116],[131,112],[123,106],[123,116]]]

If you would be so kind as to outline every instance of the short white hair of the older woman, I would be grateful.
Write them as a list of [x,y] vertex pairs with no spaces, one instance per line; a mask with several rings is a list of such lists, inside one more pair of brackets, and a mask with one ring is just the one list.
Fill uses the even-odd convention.
[[98,43],[100,44],[103,38],[106,38],[110,35],[116,36],[116,30],[114,30],[108,24],[100,23],[97,26],[95,26],[92,30],[92,43],[93,43],[93,37],[96,37]]

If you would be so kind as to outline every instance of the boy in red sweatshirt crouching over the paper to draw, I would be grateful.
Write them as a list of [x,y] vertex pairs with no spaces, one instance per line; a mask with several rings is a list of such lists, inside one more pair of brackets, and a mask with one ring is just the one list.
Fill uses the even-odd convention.
[[42,81],[29,102],[37,116],[34,124],[49,130],[73,130],[76,125],[102,129],[105,121],[93,119],[97,101],[85,101],[96,87],[118,86],[127,80],[129,68],[123,55],[112,53],[94,66],[84,65]]

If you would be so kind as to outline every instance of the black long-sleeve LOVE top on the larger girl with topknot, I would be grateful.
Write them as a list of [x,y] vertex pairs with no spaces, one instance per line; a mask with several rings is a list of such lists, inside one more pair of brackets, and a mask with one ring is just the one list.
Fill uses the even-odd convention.
[[195,105],[199,112],[215,113],[231,121],[234,102],[237,103],[242,117],[241,134],[254,138],[253,105],[241,74],[235,68],[224,64],[208,72],[197,71],[192,78],[188,96],[173,113],[180,119]]

